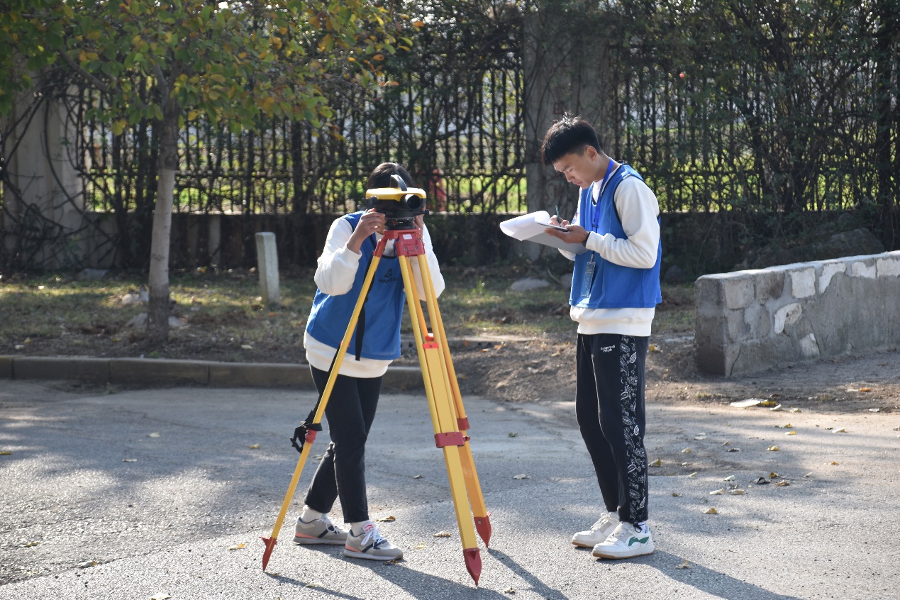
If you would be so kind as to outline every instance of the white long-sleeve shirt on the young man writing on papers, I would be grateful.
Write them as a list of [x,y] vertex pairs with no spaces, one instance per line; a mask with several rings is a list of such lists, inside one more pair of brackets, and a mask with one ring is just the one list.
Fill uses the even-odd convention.
[[[597,202],[602,181],[591,186],[591,197]],[[600,235],[596,231],[588,233],[587,247],[610,263],[630,266],[635,269],[649,269],[656,264],[656,253],[660,246],[660,224],[656,220],[660,205],[656,194],[637,177],[626,177],[616,188],[613,199],[616,203],[622,229],[626,239],[619,239],[608,233]],[[573,225],[581,225],[581,215],[575,214]],[[560,250],[575,260],[572,252]],[[650,336],[656,309],[582,309],[572,307],[572,320],[578,323],[578,333],[619,334],[622,336]]]

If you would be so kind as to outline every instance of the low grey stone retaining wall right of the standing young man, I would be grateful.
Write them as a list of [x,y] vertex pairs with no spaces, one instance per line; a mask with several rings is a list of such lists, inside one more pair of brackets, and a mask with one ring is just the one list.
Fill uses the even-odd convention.
[[900,251],[705,275],[696,291],[703,372],[900,344]]

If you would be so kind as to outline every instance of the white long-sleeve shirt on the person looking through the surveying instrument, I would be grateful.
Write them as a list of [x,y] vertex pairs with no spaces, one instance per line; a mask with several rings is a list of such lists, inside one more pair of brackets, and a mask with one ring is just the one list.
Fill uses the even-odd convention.
[[[325,249],[322,250],[322,255],[319,257],[314,279],[320,291],[329,296],[346,294],[353,288],[353,282],[356,280],[356,270],[360,266],[360,259],[363,255],[357,254],[347,247],[347,241],[352,234],[353,227],[347,219],[335,219],[329,229],[329,235],[325,239]],[[375,234],[375,237],[376,241],[381,240],[382,235]],[[431,236],[428,235],[428,227],[422,229],[422,241],[425,243],[425,257],[428,261],[428,271],[431,273],[431,285],[434,288],[435,296],[440,296],[445,287],[444,276],[437,264],[437,256],[435,256],[434,247],[431,244]],[[385,256],[394,255],[393,246],[394,240],[389,240],[384,246]],[[365,268],[365,262],[363,265]],[[418,258],[410,260],[410,265],[419,299],[425,300],[425,288],[422,286]],[[338,349],[321,343],[309,332],[303,334],[303,345],[306,347],[306,361],[320,371],[328,371],[331,360]],[[391,361],[365,357],[360,357],[357,361],[355,356],[345,355],[339,373],[348,377],[381,377],[387,372],[390,364]]]

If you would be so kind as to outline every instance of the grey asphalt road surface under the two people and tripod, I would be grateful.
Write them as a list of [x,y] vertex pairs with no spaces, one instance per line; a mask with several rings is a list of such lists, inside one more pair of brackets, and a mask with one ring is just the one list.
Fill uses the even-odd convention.
[[[372,517],[394,517],[380,526],[405,558],[291,542],[326,431],[264,573],[258,538],[275,524],[299,456],[288,438],[314,400],[4,381],[0,596],[872,600],[900,589],[896,414],[649,407],[657,551],[613,561],[570,543],[600,506],[572,403],[467,398],[493,526],[475,587],[426,399],[392,393],[367,444],[367,484]],[[339,503],[332,516],[342,520]]]

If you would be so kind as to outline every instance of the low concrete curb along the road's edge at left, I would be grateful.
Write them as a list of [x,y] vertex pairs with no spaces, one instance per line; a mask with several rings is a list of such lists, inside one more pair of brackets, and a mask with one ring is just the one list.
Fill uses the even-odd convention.
[[[205,385],[213,388],[312,389],[310,367],[286,363],[217,363],[158,358],[0,356],[0,380],[66,380],[98,385]],[[383,386],[420,390],[418,367],[390,367]]]

